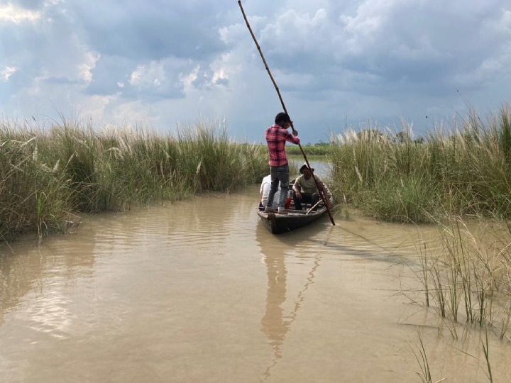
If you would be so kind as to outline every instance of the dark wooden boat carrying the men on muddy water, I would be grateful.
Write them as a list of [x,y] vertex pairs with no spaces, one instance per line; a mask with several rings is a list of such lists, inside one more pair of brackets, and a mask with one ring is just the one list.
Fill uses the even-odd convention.
[[[290,190],[294,183],[294,180],[290,182]],[[331,192],[326,185],[325,188],[329,192],[330,202],[333,203]],[[260,204],[258,204],[257,213],[270,233],[281,234],[309,225],[328,212],[322,199],[319,199],[317,206],[302,203],[302,208],[303,210],[295,210],[295,204],[291,200],[290,208],[286,209],[287,214],[265,213],[264,207]]]

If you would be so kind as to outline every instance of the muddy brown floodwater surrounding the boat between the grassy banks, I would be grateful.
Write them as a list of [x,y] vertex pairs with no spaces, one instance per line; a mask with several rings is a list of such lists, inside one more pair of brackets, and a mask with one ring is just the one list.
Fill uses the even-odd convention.
[[[417,228],[338,214],[272,235],[257,199],[106,213],[0,248],[0,381],[421,382],[420,329],[433,382],[489,382],[480,333],[453,340],[412,304]],[[507,382],[510,344],[489,343]]]

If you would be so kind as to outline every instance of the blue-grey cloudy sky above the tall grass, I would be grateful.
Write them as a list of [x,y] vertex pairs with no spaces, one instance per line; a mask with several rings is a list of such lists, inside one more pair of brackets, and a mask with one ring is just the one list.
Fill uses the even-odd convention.
[[[511,101],[509,0],[243,0],[302,143]],[[282,110],[236,0],[0,0],[0,120],[260,142]]]

